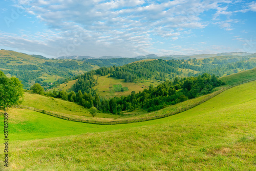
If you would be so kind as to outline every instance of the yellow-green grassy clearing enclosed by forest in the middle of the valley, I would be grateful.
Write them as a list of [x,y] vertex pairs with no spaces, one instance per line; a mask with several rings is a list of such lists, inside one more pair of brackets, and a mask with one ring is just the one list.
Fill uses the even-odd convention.
[[[94,76],[95,79],[98,79],[98,85],[94,86],[94,89],[98,89],[99,95],[101,97],[114,97],[114,96],[122,96],[122,95],[129,95],[131,94],[132,91],[135,91],[136,93],[139,91],[143,91],[145,88],[149,88],[150,85],[158,85],[161,83],[160,81],[157,80],[143,80],[138,83],[126,83],[124,82],[123,79],[117,79],[108,76],[99,76],[96,75]],[[115,87],[116,85],[121,85],[122,87],[127,87],[125,88],[125,91],[116,91]]]

